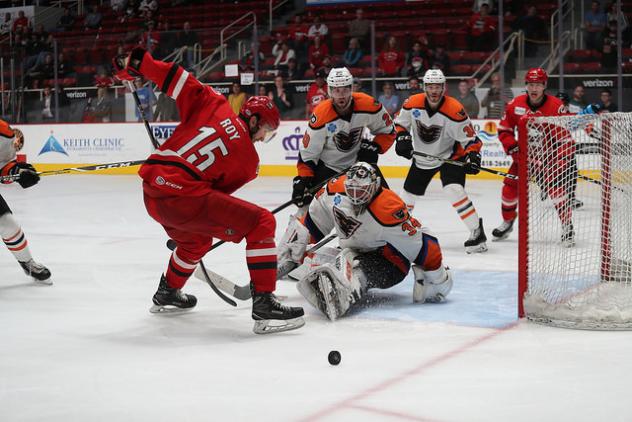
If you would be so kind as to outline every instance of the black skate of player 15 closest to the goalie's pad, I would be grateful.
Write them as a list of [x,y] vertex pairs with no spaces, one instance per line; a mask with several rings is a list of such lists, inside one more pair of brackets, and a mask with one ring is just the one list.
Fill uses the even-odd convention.
[[255,334],[272,334],[290,331],[305,325],[303,308],[283,306],[272,293],[254,293],[252,319]]

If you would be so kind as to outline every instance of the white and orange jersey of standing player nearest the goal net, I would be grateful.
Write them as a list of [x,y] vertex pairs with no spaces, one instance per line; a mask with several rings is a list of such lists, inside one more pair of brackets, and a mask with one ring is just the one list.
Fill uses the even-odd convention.
[[[405,129],[413,137],[415,151],[440,158],[458,159],[465,150],[479,151],[481,142],[463,105],[445,95],[436,110],[432,110],[425,94],[410,96],[395,118],[398,130]],[[432,158],[414,156],[421,169],[433,169],[442,162]]]

